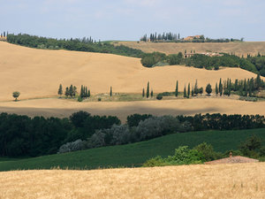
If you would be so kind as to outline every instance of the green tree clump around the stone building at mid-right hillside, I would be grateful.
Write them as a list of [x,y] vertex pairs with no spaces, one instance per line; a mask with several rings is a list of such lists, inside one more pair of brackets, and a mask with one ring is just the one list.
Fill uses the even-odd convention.
[[208,57],[206,55],[194,54],[192,57],[184,57],[182,52],[167,56],[161,52],[145,53],[141,57],[141,64],[146,67],[156,65],[186,65],[208,70],[218,70],[219,66],[240,67],[246,71],[260,73],[265,77],[265,56],[258,54],[256,57],[238,57],[222,53],[221,57]]

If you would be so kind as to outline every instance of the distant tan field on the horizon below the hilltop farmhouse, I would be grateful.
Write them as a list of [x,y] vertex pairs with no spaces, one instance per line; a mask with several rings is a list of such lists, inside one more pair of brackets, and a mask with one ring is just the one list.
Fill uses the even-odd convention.
[[265,55],[265,42],[228,42],[228,43],[174,43],[174,42],[118,42],[133,49],[143,50],[144,52],[159,51],[166,54],[176,54],[178,52],[190,52],[195,50],[201,52],[225,52],[233,53],[238,56],[247,54],[256,56],[259,52]]

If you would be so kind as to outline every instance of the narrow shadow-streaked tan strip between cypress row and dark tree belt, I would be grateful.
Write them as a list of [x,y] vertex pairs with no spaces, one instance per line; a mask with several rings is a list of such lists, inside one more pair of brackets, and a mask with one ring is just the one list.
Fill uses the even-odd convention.
[[265,102],[246,102],[226,98],[198,98],[136,102],[76,102],[64,99],[38,99],[0,103],[0,112],[29,116],[68,117],[76,111],[95,115],[117,116],[122,122],[133,113],[161,115],[194,115],[197,113],[265,115]]

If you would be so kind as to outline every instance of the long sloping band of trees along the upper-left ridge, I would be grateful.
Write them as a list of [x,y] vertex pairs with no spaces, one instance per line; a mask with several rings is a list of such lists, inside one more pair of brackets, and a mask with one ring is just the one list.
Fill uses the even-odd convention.
[[114,46],[110,42],[95,42],[91,37],[53,39],[29,34],[8,34],[7,42],[38,49],[100,52],[128,57],[141,57],[143,54],[141,50],[132,49],[124,45]]

